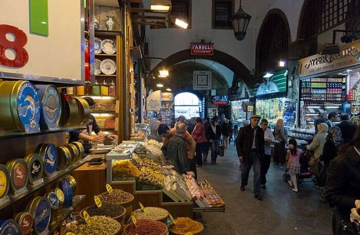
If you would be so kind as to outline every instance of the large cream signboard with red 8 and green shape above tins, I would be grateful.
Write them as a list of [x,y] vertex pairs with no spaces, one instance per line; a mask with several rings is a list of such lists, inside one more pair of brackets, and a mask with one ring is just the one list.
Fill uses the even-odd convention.
[[83,4],[1,1],[0,78],[83,84]]

